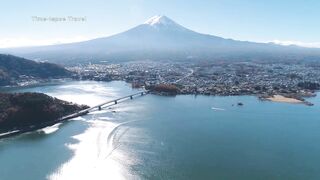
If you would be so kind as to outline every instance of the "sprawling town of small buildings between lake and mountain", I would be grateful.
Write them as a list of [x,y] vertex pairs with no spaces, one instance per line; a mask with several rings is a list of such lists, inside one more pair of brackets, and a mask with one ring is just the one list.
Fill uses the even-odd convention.
[[202,62],[88,64],[68,68],[80,80],[124,80],[133,87],[175,85],[178,94],[258,95],[282,94],[303,100],[320,89],[320,64]]

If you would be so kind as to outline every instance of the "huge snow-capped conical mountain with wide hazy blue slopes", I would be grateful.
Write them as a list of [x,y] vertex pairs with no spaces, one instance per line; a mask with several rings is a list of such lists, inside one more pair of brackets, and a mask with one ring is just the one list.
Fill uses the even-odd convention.
[[100,61],[317,60],[320,49],[224,39],[189,30],[166,16],[155,16],[128,31],[84,42],[1,49],[59,64]]

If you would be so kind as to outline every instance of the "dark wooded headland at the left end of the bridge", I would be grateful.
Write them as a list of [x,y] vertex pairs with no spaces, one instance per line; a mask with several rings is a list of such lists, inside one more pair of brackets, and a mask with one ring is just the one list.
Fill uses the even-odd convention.
[[54,125],[86,108],[42,93],[0,93],[0,133],[15,132],[9,136]]

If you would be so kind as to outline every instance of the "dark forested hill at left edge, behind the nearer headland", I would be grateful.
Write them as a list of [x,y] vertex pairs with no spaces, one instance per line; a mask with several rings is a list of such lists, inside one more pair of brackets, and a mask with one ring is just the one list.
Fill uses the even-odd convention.
[[69,77],[71,72],[51,63],[42,63],[24,58],[0,54],[0,86],[16,85],[22,78],[48,79]]

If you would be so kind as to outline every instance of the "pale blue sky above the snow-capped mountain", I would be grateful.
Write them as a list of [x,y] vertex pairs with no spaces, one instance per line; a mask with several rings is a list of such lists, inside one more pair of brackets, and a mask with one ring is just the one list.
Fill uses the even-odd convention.
[[[0,7],[0,47],[105,37],[158,14],[225,38],[320,47],[319,0],[5,0]],[[39,22],[33,16],[86,21]]]

